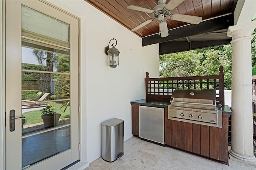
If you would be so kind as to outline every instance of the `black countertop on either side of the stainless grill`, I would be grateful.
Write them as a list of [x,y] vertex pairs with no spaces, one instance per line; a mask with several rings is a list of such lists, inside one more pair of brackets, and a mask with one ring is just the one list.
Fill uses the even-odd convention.
[[[131,101],[131,104],[140,105],[140,106],[148,106],[148,107],[168,108],[168,105],[170,105],[170,102],[169,101],[140,99],[140,100],[136,100],[136,101]],[[228,105],[222,106],[222,114],[223,115],[232,115],[232,111]]]

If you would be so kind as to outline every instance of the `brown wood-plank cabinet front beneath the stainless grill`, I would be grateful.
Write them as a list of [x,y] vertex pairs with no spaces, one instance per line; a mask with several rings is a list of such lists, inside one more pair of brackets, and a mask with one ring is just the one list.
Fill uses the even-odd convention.
[[223,128],[168,119],[165,109],[165,144],[228,164],[228,115]]

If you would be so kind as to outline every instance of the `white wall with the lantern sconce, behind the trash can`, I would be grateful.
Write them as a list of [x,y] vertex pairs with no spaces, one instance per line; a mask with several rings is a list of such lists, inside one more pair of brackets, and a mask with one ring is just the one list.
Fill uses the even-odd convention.
[[[132,136],[130,101],[144,99],[146,71],[159,76],[158,44],[142,47],[142,38],[83,0],[49,2],[81,18],[82,154],[87,150],[90,163],[101,156],[103,121],[123,119],[124,140]],[[112,38],[120,51],[116,68],[108,66],[104,53]]]

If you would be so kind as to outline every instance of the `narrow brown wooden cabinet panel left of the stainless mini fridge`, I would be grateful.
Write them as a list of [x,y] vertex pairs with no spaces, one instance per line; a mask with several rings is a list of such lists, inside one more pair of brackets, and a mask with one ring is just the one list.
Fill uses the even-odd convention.
[[132,134],[139,136],[139,105],[132,104]]

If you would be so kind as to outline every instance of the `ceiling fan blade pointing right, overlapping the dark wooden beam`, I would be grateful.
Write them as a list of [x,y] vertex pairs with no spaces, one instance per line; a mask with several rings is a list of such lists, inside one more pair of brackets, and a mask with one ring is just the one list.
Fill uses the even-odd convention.
[[172,14],[170,19],[191,24],[199,24],[202,21],[202,17],[183,14]]

